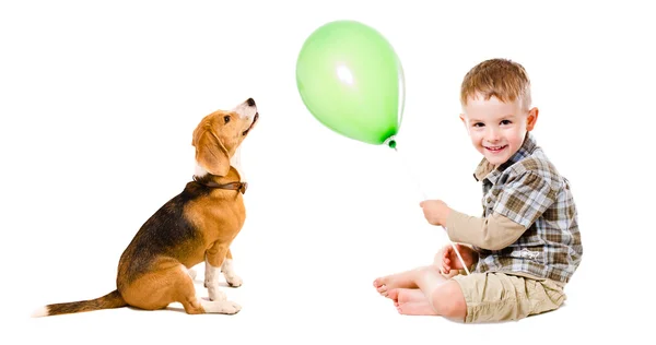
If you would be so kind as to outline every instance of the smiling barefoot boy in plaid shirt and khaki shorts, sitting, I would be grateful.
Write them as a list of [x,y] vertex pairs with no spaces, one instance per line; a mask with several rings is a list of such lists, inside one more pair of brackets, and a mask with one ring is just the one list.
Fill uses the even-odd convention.
[[420,203],[450,245],[433,265],[374,281],[403,314],[435,314],[471,322],[519,320],[558,309],[581,263],[583,247],[569,181],[559,175],[530,131],[530,82],[513,61],[491,59],[471,69],[460,90],[471,143],[483,158],[475,171],[483,187],[483,216],[441,200]]

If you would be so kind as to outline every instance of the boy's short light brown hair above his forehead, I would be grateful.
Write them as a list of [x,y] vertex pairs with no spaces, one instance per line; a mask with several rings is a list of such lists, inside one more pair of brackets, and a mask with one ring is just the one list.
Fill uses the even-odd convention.
[[490,59],[475,66],[462,80],[460,104],[480,94],[483,99],[494,96],[508,103],[519,99],[522,109],[530,106],[530,80],[524,67],[507,59]]

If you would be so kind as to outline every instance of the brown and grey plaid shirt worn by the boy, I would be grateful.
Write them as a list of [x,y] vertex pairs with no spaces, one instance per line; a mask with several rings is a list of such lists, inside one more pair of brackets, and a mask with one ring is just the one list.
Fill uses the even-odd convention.
[[559,175],[532,135],[494,169],[483,158],[475,178],[482,180],[483,217],[497,213],[527,230],[501,250],[475,247],[476,272],[502,271],[569,282],[581,263],[583,246],[569,181]]

